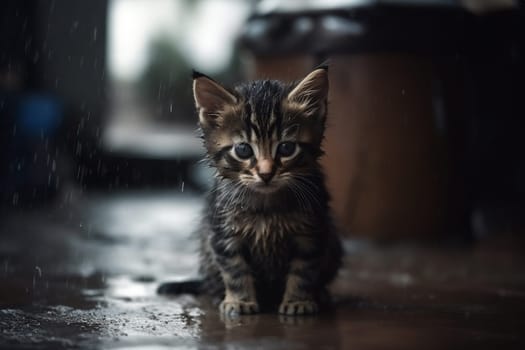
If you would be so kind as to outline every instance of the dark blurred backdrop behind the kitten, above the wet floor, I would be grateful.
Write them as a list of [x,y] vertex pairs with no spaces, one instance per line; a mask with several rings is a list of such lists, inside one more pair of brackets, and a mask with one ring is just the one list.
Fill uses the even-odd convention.
[[494,1],[5,1],[2,209],[75,188],[202,191],[190,72],[330,63],[324,165],[345,232],[522,229],[523,10]]

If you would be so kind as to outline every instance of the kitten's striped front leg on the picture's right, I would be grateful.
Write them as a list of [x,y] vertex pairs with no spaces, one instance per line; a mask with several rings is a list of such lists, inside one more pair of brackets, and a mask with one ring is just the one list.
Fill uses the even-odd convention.
[[311,239],[296,242],[297,253],[290,263],[279,313],[305,315],[318,310],[314,291],[319,281],[319,249]]

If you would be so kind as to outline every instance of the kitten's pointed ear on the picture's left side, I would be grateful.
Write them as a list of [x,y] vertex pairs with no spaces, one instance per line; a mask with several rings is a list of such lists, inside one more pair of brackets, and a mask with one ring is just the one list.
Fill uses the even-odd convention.
[[193,97],[201,127],[219,125],[224,107],[237,102],[237,98],[219,83],[196,71],[193,71]]

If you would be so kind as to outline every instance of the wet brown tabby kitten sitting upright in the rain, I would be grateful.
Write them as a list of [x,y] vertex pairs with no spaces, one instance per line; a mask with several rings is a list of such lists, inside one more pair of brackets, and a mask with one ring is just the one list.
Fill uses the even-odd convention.
[[319,165],[327,67],[295,84],[260,80],[233,90],[193,78],[216,170],[199,230],[203,291],[223,298],[225,315],[317,312],[342,255]]

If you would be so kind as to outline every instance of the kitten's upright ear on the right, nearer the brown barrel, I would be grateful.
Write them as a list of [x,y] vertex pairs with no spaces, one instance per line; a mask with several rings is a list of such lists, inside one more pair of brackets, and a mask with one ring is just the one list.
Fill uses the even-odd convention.
[[313,70],[288,94],[288,102],[298,104],[306,113],[324,115],[328,96],[328,67]]

